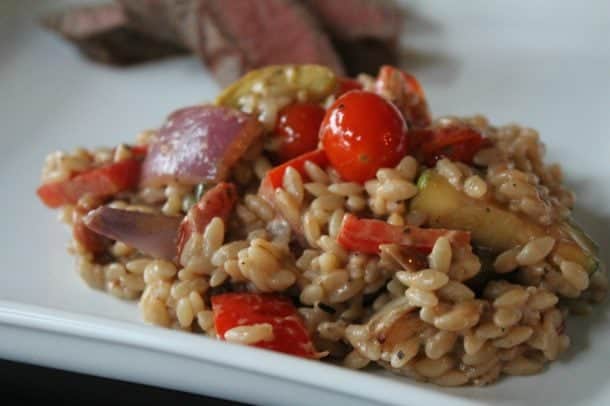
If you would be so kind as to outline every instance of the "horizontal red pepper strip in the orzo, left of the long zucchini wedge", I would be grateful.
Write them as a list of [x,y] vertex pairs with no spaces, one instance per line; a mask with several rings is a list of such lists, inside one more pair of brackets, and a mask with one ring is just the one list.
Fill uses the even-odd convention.
[[439,237],[447,236],[453,244],[470,244],[470,233],[442,228],[393,226],[381,220],[359,219],[348,214],[343,219],[337,241],[350,251],[378,254],[381,244],[398,244],[428,253]]

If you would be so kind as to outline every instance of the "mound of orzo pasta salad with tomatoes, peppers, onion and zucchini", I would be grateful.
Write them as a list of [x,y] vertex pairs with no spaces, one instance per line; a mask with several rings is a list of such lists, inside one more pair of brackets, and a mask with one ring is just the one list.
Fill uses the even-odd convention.
[[145,321],[439,385],[540,372],[604,299],[535,130],[433,119],[384,66],[269,66],[114,148],[49,155],[38,196],[92,287]]

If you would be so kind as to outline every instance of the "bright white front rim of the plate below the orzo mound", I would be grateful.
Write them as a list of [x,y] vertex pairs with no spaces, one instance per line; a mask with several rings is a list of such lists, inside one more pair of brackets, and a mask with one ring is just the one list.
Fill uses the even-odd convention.
[[[136,347],[170,357],[187,357],[197,362],[262,374],[272,379],[288,380],[313,389],[321,388],[330,393],[381,404],[404,404],[405,401],[417,404],[425,401],[453,402],[455,405],[480,404],[474,399],[467,400],[459,394],[446,393],[442,388],[429,384],[418,386],[407,377],[404,377],[404,381],[397,381],[367,371],[354,371],[326,362],[222,342],[202,334],[194,335],[10,300],[0,300],[0,326],[2,325],[28,330],[32,334],[51,333],[90,343]],[[0,346],[4,347],[2,344]],[[367,390],[372,386],[382,387],[383,391]]]

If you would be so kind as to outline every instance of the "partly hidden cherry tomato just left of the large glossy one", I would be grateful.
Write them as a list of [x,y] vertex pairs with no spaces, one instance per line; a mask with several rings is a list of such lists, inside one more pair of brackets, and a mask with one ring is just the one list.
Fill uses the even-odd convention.
[[324,109],[315,103],[294,103],[280,110],[275,125],[281,138],[278,160],[288,161],[316,149],[323,118]]

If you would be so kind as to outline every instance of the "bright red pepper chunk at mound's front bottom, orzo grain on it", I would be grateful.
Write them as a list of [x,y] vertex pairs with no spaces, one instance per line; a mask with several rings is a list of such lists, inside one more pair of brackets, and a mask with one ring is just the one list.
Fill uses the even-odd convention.
[[272,294],[226,293],[212,296],[216,334],[238,326],[269,323],[273,339],[253,344],[286,354],[313,358],[315,350],[305,324],[290,299]]

